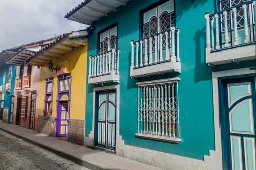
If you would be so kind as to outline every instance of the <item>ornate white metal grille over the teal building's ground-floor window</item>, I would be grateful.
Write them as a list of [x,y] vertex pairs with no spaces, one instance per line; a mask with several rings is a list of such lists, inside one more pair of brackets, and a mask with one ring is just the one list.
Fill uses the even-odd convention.
[[178,83],[138,88],[138,131],[163,137],[179,137]]

